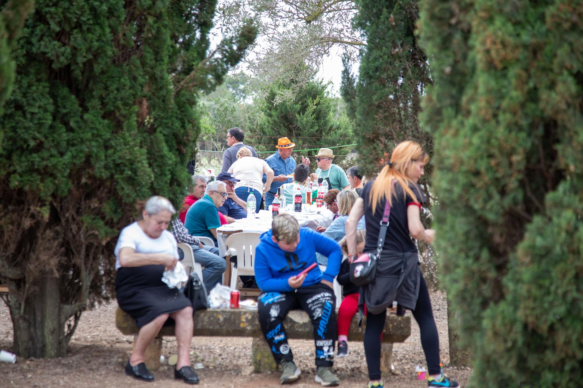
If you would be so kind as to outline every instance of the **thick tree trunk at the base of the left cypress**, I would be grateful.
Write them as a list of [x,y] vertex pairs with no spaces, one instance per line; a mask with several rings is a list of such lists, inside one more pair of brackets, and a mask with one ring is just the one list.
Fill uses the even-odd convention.
[[65,322],[61,318],[59,279],[43,277],[35,288],[36,292],[28,295],[24,302],[10,295],[14,351],[24,358],[65,357],[67,344]]

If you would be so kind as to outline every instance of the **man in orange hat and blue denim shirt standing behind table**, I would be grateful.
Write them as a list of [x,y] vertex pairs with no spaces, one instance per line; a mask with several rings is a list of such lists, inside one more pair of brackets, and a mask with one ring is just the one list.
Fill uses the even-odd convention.
[[[291,158],[291,151],[296,144],[290,142],[287,137],[282,137],[278,140],[278,145],[275,146],[275,154],[268,156],[265,161],[273,170],[273,182],[271,183],[271,189],[265,193],[265,206],[271,205],[273,198],[278,193],[278,189],[286,183],[291,182],[291,177],[288,175],[293,174],[296,169],[296,161]],[[310,165],[310,160],[308,158],[301,157],[301,163],[305,165]],[[266,181],[265,174],[263,175],[263,181]]]

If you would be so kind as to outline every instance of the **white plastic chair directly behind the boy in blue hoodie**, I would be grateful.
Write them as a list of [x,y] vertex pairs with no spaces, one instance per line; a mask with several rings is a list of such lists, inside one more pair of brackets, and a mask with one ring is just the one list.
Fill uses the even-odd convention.
[[[231,256],[237,255],[237,268],[231,263],[231,290],[236,290],[240,275],[255,276],[255,248],[261,233],[235,233],[227,237],[224,245]],[[258,294],[259,295],[259,294]]]

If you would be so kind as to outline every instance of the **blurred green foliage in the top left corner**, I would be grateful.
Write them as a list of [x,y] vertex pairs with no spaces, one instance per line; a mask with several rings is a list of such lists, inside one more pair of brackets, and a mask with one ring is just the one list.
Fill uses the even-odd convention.
[[0,1],[0,115],[5,101],[12,92],[15,78],[16,63],[12,59],[12,49],[24,20],[33,9],[33,3],[33,0]]

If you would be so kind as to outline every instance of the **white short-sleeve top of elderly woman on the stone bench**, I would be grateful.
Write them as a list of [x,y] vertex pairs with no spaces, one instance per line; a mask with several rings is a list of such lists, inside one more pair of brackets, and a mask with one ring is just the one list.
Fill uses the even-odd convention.
[[125,246],[133,248],[136,253],[166,253],[178,259],[178,245],[173,234],[165,230],[159,238],[152,238],[145,234],[137,222],[121,230],[114,249],[115,270],[121,267],[120,250]]

